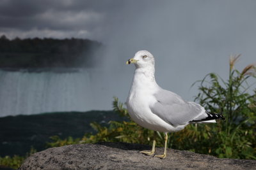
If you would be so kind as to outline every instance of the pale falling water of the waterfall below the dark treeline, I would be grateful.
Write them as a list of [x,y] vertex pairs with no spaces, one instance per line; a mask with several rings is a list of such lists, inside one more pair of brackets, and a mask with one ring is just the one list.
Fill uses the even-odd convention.
[[109,110],[113,94],[101,72],[96,69],[0,70],[0,117]]

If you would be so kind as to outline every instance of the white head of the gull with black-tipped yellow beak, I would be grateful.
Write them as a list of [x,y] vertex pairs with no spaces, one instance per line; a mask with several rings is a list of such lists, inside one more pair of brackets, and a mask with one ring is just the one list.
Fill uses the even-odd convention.
[[155,66],[155,59],[154,56],[148,52],[147,50],[141,50],[135,53],[132,59],[127,60],[126,64],[132,64],[136,66],[136,68],[143,68],[143,67],[154,67]]

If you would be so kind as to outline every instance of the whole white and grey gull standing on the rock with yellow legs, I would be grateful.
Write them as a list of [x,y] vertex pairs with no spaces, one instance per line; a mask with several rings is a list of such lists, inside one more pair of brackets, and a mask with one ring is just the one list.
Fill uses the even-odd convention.
[[218,118],[225,119],[222,115],[205,111],[200,104],[184,101],[179,95],[159,87],[154,76],[155,59],[147,50],[138,51],[126,64],[136,67],[126,101],[129,115],[137,124],[153,130],[154,134],[164,132],[163,155],[154,155],[155,139],[150,152],[140,153],[164,159],[168,132],[181,131],[188,124],[216,123]]

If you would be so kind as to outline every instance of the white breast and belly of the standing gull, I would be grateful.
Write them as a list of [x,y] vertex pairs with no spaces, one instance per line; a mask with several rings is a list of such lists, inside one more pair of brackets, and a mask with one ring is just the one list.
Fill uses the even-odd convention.
[[[141,79],[143,81],[140,81]],[[134,80],[126,102],[127,110],[132,120],[153,131],[175,132],[184,129],[184,125],[173,127],[164,122],[150,110],[150,104],[157,102],[153,96],[157,88],[159,87],[156,81],[147,80],[143,74],[134,74]]]

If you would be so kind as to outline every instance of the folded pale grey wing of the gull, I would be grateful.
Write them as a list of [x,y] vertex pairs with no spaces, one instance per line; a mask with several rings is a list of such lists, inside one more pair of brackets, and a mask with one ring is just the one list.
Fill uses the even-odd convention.
[[202,114],[204,108],[193,102],[183,101],[180,96],[160,89],[156,94],[157,103],[152,104],[152,113],[173,126],[184,125]]

